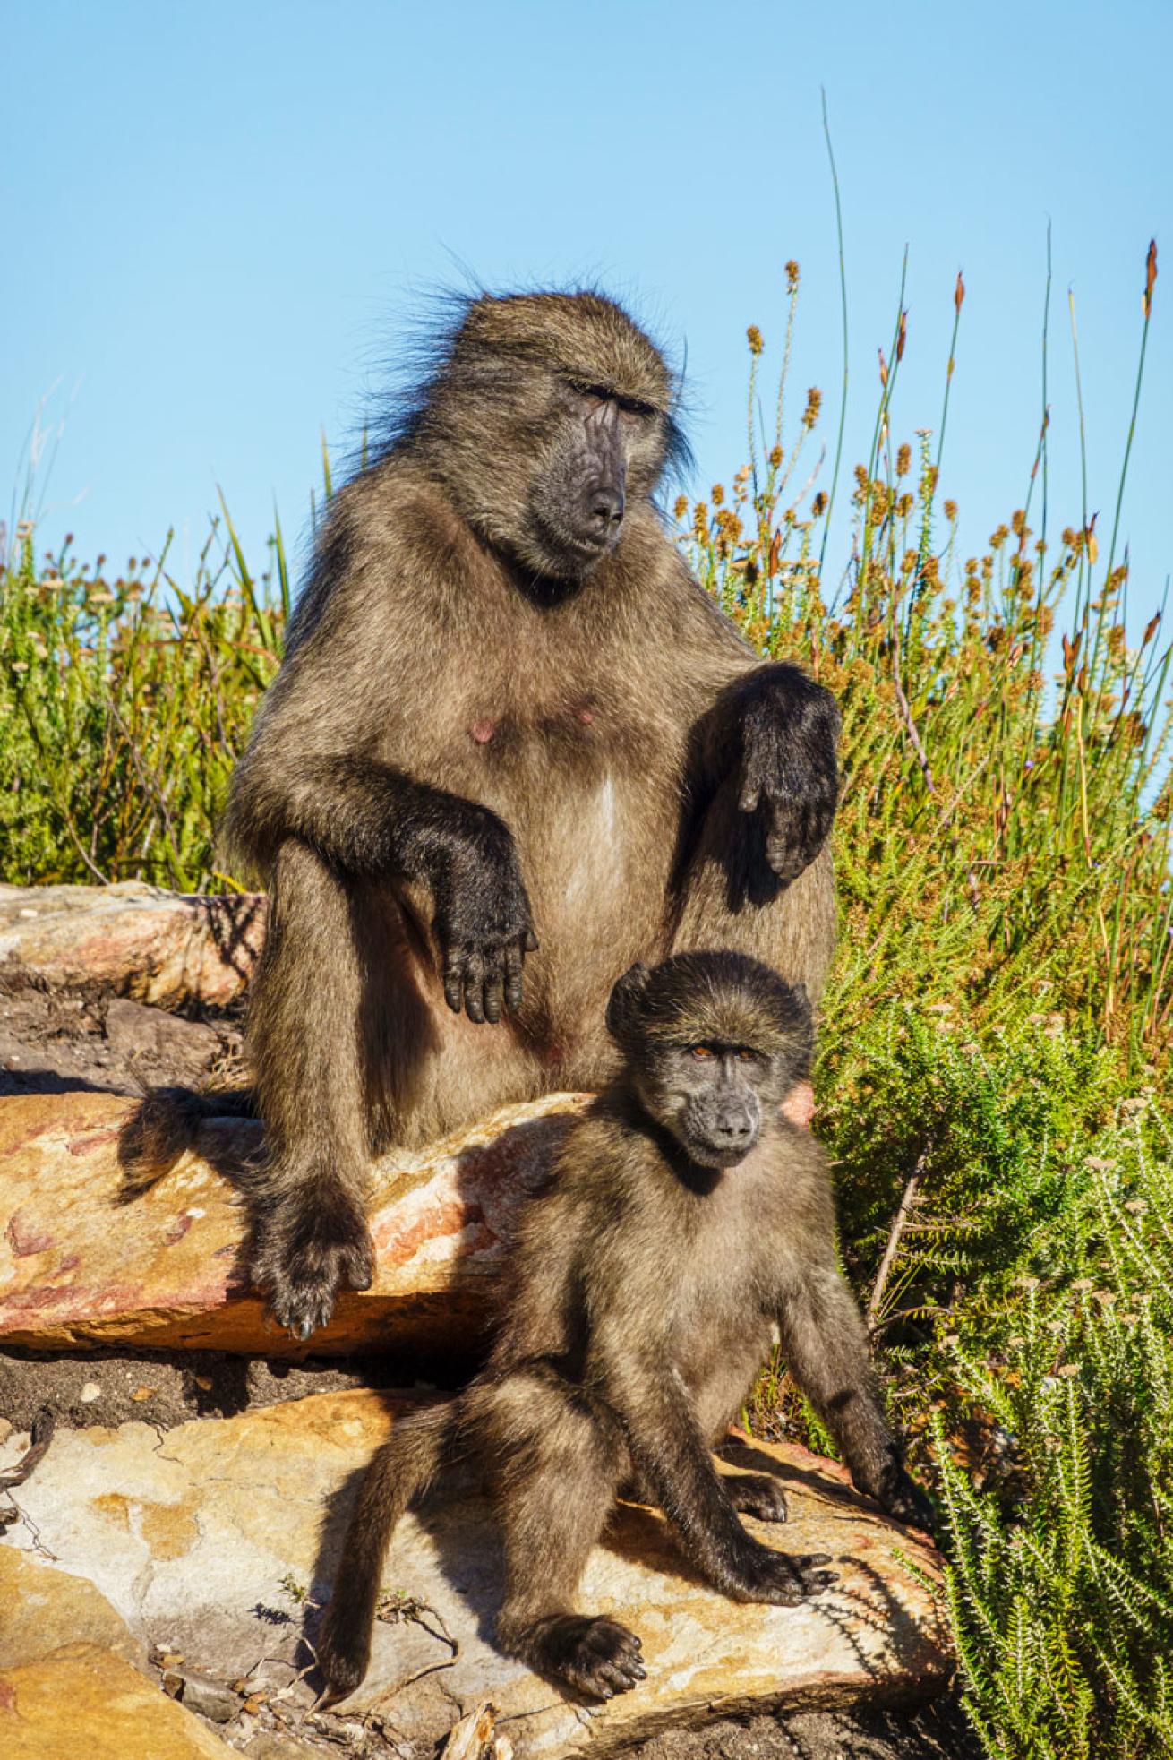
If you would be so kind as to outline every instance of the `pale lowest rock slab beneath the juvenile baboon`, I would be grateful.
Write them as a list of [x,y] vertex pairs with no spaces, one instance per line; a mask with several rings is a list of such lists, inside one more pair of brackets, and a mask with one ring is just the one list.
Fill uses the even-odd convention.
[[297,1679],[311,1660],[302,1619],[310,1609],[311,1640],[357,1471],[394,1410],[373,1392],[322,1394],[164,1436],[148,1424],[60,1433],[18,1487],[21,1519],[5,1542],[90,1579],[141,1642],[227,1684],[244,1677],[253,1727],[280,1693],[306,1735],[352,1728],[420,1756],[485,1697],[517,1760],[552,1760],[774,1705],[914,1700],[948,1672],[932,1595],[909,1570],[932,1577],[930,1549],[856,1498],[841,1470],[756,1445],[753,1464],[786,1482],[791,1521],[749,1526],[767,1544],[830,1552],[832,1595],[800,1609],[732,1603],[695,1579],[658,1512],[621,1507],[580,1605],[638,1630],[649,1679],[605,1707],[570,1704],[489,1644],[498,1540],[466,1492],[403,1522],[371,1674],[336,1712],[311,1714],[313,1681]]

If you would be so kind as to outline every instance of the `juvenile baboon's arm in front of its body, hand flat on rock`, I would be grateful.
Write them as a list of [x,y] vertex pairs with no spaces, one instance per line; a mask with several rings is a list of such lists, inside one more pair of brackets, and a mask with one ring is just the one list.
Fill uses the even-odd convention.
[[740,1602],[793,1607],[834,1580],[827,1554],[786,1556],[760,1545],[740,1524],[689,1394],[667,1355],[628,1341],[593,1355],[594,1383],[619,1417],[637,1470],[679,1535],[686,1556],[718,1589]]

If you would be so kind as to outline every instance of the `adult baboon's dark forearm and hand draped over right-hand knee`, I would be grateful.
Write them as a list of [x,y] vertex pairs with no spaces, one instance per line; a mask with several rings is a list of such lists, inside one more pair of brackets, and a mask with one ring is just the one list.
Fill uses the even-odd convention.
[[693,736],[691,781],[705,803],[726,776],[742,813],[763,815],[765,859],[797,880],[830,834],[839,797],[835,699],[797,665],[769,662],[726,685]]

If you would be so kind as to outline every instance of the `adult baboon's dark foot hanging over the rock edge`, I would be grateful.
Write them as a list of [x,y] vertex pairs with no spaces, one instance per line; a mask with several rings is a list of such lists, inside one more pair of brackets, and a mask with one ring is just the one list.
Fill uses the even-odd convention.
[[257,1221],[251,1278],[278,1325],[310,1338],[334,1313],[339,1290],[369,1290],[375,1243],[366,1216],[343,1193],[310,1193]]

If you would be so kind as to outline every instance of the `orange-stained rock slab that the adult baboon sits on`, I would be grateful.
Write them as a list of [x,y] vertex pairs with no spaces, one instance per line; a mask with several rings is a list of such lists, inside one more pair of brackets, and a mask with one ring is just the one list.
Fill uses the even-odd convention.
[[[229,1183],[260,1126],[211,1119],[151,1192],[120,1204],[109,1095],[0,1104],[0,1343],[37,1350],[135,1343],[304,1357],[383,1343],[471,1345],[519,1195],[549,1165],[582,1096],[505,1107],[375,1170],[378,1274],[295,1345],[246,1292],[244,1216]],[[229,1177],[225,1177],[229,1176]]]

